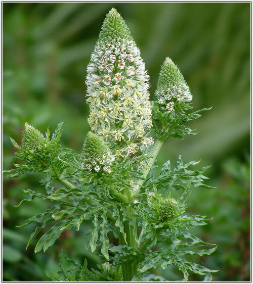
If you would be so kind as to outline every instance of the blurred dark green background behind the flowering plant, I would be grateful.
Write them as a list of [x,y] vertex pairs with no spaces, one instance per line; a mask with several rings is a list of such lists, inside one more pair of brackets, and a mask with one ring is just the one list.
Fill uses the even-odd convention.
[[[86,67],[105,14],[116,8],[141,49],[151,76],[151,97],[160,65],[169,56],[181,68],[193,94],[194,110],[211,107],[190,123],[199,131],[185,140],[169,140],[158,156],[212,164],[209,184],[195,189],[190,213],[207,215],[210,224],[196,233],[218,245],[206,258],[193,260],[220,269],[216,281],[248,281],[250,275],[250,3],[3,3],[3,168],[13,167],[14,147],[23,124],[46,131],[65,121],[62,145],[79,151],[89,131]],[[83,247],[82,230],[66,231],[47,253],[25,250],[30,224],[49,202],[34,200],[15,208],[22,189],[43,190],[39,174],[4,177],[3,279],[48,281],[44,270],[58,271],[58,253],[95,265]],[[182,278],[174,267],[157,269],[170,280]],[[170,276],[168,276],[170,275]],[[191,275],[190,280],[202,280]]]

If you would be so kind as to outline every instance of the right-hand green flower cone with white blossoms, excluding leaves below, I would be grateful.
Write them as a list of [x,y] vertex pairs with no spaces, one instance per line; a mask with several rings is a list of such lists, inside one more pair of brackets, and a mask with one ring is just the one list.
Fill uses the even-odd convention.
[[170,58],[166,58],[161,67],[155,96],[158,104],[170,112],[174,112],[177,105],[182,107],[192,100],[189,86]]

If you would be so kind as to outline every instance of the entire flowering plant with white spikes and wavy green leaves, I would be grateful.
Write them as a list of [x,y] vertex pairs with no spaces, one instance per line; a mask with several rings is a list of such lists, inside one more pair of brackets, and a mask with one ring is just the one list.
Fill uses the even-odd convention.
[[[164,281],[150,269],[175,265],[188,280],[189,272],[212,279],[208,269],[185,258],[188,254],[210,255],[216,250],[190,233],[206,224],[206,216],[187,215],[190,186],[213,188],[204,183],[208,167],[191,169],[198,162],[179,157],[172,169],[167,161],[156,174],[155,159],[164,140],[195,134],[186,122],[200,117],[191,109],[192,95],[179,68],[166,58],[160,71],[154,100],[149,101],[149,76],[128,27],[112,9],[104,21],[87,68],[88,122],[91,130],[80,154],[59,145],[62,123],[50,137],[26,123],[22,145],[15,157],[22,164],[6,170],[10,177],[26,171],[46,174],[40,182],[46,193],[25,190],[34,198],[52,201],[52,207],[21,225],[39,222],[28,245],[36,240],[35,253],[52,246],[67,229],[79,230],[92,223],[85,243],[102,260],[96,269],[67,259],[56,281]],[[62,186],[54,187],[53,180]],[[181,190],[180,198],[173,191]],[[49,227],[47,231],[43,230]],[[43,230],[43,234],[41,234]],[[112,243],[108,233],[118,240]],[[164,246],[164,241],[169,242]],[[209,248],[207,248],[209,246]],[[199,249],[204,247],[202,249]],[[155,248],[155,249],[154,249]],[[59,255],[62,264],[63,251]]]

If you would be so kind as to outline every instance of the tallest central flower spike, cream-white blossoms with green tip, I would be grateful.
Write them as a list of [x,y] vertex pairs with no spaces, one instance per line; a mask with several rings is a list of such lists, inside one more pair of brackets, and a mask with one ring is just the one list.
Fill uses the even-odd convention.
[[[92,131],[113,139],[118,155],[135,153],[137,138],[152,126],[149,76],[124,20],[107,15],[87,68],[88,119]],[[143,138],[146,146],[152,138]]]

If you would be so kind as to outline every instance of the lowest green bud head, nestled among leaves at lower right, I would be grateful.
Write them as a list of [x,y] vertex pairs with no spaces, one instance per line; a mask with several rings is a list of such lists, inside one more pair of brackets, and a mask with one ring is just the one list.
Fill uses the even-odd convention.
[[179,214],[179,204],[176,199],[162,198],[160,195],[150,194],[148,199],[149,207],[154,213],[155,223],[172,224]]

